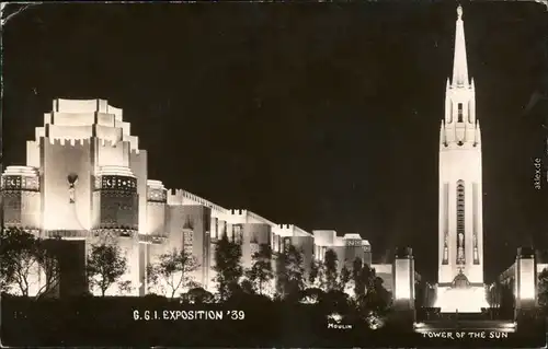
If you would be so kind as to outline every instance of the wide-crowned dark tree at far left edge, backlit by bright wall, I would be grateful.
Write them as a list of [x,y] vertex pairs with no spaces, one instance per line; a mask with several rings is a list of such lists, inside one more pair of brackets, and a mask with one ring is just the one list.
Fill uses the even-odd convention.
[[[41,282],[38,276],[45,276]],[[22,295],[38,298],[58,286],[59,263],[54,251],[21,229],[0,232],[0,289],[16,287]],[[32,290],[34,289],[34,290]]]

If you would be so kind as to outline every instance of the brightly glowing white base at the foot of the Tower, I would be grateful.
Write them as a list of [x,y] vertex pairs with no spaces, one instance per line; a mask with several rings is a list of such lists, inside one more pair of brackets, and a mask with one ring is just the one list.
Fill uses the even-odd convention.
[[467,289],[437,289],[435,307],[442,313],[481,313],[482,307],[489,307],[486,291],[481,287]]

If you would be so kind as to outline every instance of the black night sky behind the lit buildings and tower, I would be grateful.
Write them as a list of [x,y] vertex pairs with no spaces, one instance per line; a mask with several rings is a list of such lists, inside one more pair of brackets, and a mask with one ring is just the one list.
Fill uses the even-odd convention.
[[[464,13],[491,279],[516,247],[548,245],[548,189],[533,187],[543,132],[523,117],[548,90],[548,13]],[[148,150],[149,178],[275,222],[358,232],[376,258],[410,245],[435,280],[455,20],[452,1],[35,5],[4,28],[5,163],[24,163],[53,98],[106,98]]]

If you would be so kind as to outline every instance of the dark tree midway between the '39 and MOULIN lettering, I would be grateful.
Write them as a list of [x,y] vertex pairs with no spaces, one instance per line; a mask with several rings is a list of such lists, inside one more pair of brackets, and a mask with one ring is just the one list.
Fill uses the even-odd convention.
[[305,286],[305,268],[302,267],[302,254],[294,245],[289,245],[277,258],[276,289],[278,294],[285,299],[288,295],[298,296]]

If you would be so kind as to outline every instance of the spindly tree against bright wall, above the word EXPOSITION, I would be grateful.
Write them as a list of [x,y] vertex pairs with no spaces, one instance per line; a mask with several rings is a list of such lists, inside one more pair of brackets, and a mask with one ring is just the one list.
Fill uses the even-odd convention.
[[175,296],[179,290],[197,287],[192,274],[199,267],[196,257],[184,249],[173,248],[160,255],[159,261],[148,268],[148,281],[160,286],[164,295]]

